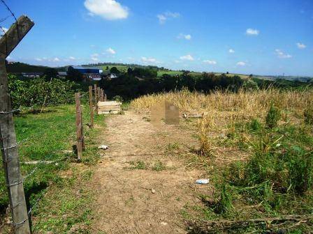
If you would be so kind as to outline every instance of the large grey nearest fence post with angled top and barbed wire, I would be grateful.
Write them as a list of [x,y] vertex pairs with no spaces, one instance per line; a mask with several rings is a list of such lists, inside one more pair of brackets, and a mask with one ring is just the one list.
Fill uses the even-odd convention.
[[15,234],[30,234],[31,228],[29,227],[20,159],[17,152],[13,110],[6,74],[6,57],[32,26],[34,26],[34,22],[23,15],[0,38],[0,148]]

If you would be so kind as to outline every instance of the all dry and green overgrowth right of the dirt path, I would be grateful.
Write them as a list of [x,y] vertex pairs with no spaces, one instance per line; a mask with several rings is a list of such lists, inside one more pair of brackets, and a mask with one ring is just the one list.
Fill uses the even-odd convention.
[[182,113],[205,113],[195,125],[200,141],[195,158],[201,158],[199,166],[205,165],[215,189],[213,196],[198,194],[203,206],[183,209],[183,217],[193,221],[190,233],[312,231],[312,89],[210,95],[183,90],[146,95],[130,106],[147,113],[165,100]]

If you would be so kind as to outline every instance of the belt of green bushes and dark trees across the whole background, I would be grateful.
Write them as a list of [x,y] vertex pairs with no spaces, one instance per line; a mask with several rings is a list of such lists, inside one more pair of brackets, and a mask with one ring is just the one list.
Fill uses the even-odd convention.
[[[15,106],[42,104],[46,95],[51,104],[73,102],[75,91],[88,91],[88,86],[94,84],[94,81],[82,81],[82,74],[75,69],[68,70],[66,79],[61,79],[57,77],[57,70],[54,68],[43,68],[42,77],[29,78],[16,75],[10,77],[11,96]],[[187,70],[182,70],[181,75],[163,74],[157,77],[158,70],[154,67],[128,68],[126,72],[120,72],[116,67],[112,67],[110,72],[116,74],[118,78],[109,79],[103,75],[99,86],[105,90],[109,99],[120,96],[124,100],[150,93],[180,91],[183,88],[210,93],[215,89],[235,92],[239,88],[248,90],[268,87],[305,88],[313,85],[312,79],[306,83],[284,79],[265,80],[253,76],[242,79],[238,75],[214,75],[207,72],[194,74]]]

